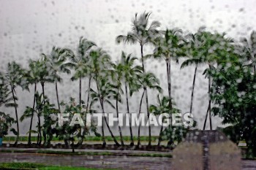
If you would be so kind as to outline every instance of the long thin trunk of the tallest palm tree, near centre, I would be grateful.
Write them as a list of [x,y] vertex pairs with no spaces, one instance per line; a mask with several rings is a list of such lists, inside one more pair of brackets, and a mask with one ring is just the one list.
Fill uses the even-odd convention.
[[[144,58],[143,58],[143,45],[140,45],[140,53],[141,53],[141,63],[142,63],[142,69],[143,69],[143,74],[145,74],[145,67],[144,67]],[[145,95],[146,95],[146,109],[147,109],[147,116],[149,120],[149,109],[148,109],[148,90],[145,87],[143,87],[145,90]],[[151,125],[148,124],[148,146],[151,146]]]

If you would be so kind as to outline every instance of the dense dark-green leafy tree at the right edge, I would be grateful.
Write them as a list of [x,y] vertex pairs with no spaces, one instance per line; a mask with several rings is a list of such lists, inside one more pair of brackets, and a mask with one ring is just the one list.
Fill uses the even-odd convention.
[[[229,60],[230,56],[235,59]],[[246,141],[247,157],[255,157],[256,74],[252,72],[251,66],[246,64],[248,61],[241,53],[229,53],[222,57],[221,61],[217,61],[217,68],[208,72],[213,77],[213,112],[223,118],[223,124],[233,125],[224,131],[230,134],[234,142]]]

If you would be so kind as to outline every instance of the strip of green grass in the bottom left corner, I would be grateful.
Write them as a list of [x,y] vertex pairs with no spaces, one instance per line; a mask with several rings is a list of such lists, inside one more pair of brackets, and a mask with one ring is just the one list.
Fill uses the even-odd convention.
[[[39,170],[99,170],[69,166],[46,166],[39,163],[0,163],[0,169],[39,169]],[[109,169],[110,170],[110,169]]]

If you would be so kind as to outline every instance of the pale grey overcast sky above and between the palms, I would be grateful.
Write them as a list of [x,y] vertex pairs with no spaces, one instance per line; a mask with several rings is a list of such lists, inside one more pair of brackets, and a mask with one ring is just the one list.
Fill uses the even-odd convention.
[[[239,39],[241,36],[248,36],[253,29],[256,30],[256,1],[253,0],[0,0],[0,6],[1,71],[6,69],[8,62],[14,60],[26,67],[29,58],[38,59],[40,53],[50,53],[53,45],[75,50],[80,36],[86,36],[107,50],[113,61],[120,58],[121,50],[139,57],[138,45],[115,44],[116,36],[129,31],[135,12],[152,12],[151,20],[159,20],[162,29],[178,27],[185,33],[193,33],[200,26],[206,26],[210,31],[225,31],[228,36]],[[152,47],[146,48],[146,53],[151,51]],[[177,107],[182,112],[187,112],[195,68],[191,66],[181,71],[179,68],[175,63],[171,66],[172,93]],[[167,95],[164,63],[148,61],[146,69],[157,74],[164,94]],[[194,115],[199,123],[198,128],[202,128],[208,106],[207,80],[201,75],[203,69],[201,67],[199,70],[195,91]],[[67,75],[63,78],[59,91],[61,100],[68,101],[69,96],[78,98],[78,82],[70,82]],[[83,89],[86,90],[86,87],[87,80],[84,80]],[[55,102],[53,85],[47,85],[46,92],[51,101]],[[139,96],[137,94],[131,99],[132,112],[138,112]],[[156,96],[154,91],[149,93],[151,104],[155,104]],[[30,93],[21,90],[18,90],[18,97],[21,115],[26,105],[31,106],[32,98]],[[86,98],[84,92],[83,98]],[[13,114],[12,110],[7,112]],[[213,121],[214,128],[220,125],[217,117]],[[21,127],[22,133],[28,131],[26,122]],[[157,130],[154,132],[158,133]]]

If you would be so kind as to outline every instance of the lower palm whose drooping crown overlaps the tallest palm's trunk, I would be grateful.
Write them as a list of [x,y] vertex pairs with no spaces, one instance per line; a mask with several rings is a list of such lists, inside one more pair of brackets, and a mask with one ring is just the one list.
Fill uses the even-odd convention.
[[[142,94],[141,99],[140,99],[140,109],[139,109],[139,115],[140,115],[142,98],[144,96],[144,93],[146,94],[146,88],[144,88],[144,87],[158,90],[159,93],[162,93],[162,88],[159,86],[159,80],[157,79],[157,77],[153,73],[150,73],[150,72],[148,72],[146,74],[142,73],[141,75],[139,75],[138,80],[140,82],[140,85],[138,85],[136,88],[138,90],[140,88],[143,88],[143,94]],[[132,91],[135,91],[135,90],[132,90]],[[147,100],[146,100],[146,103],[148,103]],[[149,107],[148,107],[148,112],[149,112]],[[150,138],[151,137],[151,131],[149,131],[149,135],[150,135],[149,136],[149,138]],[[137,145],[138,145],[138,147],[140,147],[140,125],[138,127],[138,144]]]

